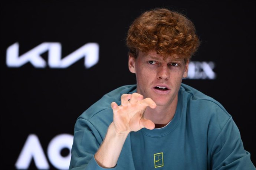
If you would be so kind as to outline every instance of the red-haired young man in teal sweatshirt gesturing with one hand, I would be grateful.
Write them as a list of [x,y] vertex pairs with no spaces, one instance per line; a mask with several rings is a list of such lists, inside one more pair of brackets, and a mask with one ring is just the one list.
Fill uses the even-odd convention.
[[135,19],[127,45],[137,85],[107,93],[79,116],[69,169],[255,169],[223,106],[182,84],[199,44],[177,12],[157,8]]

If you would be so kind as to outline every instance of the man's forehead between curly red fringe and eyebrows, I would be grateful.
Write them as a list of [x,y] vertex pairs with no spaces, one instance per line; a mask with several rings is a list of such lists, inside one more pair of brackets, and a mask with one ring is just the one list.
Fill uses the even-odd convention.
[[184,59],[177,54],[172,54],[172,55],[162,55],[162,54],[157,54],[155,50],[151,50],[148,52],[141,52],[139,51],[138,57],[141,59],[152,59],[152,60],[157,60],[157,61],[183,61]]

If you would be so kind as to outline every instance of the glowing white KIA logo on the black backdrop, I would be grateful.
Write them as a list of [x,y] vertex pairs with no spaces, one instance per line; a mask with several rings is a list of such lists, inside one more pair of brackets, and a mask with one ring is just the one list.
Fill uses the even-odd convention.
[[87,43],[62,59],[61,44],[45,42],[21,56],[19,56],[19,43],[14,43],[7,48],[6,64],[8,67],[21,67],[30,62],[36,68],[45,68],[46,61],[40,55],[47,51],[50,68],[67,68],[83,57],[85,57],[86,68],[92,67],[99,61],[99,45],[97,43]]

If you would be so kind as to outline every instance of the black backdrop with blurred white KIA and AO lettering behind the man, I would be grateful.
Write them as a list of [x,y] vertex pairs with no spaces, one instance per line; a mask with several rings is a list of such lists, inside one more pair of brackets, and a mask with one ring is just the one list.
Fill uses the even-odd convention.
[[125,37],[155,7],[195,24],[183,82],[226,108],[255,164],[255,1],[1,1],[1,167],[68,169],[76,118],[136,83]]

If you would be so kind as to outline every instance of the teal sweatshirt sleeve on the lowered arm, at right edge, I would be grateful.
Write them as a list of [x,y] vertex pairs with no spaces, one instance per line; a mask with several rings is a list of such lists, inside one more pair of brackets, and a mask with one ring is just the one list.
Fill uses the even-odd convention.
[[244,150],[239,129],[230,117],[209,150],[212,170],[256,170],[250,153]]

